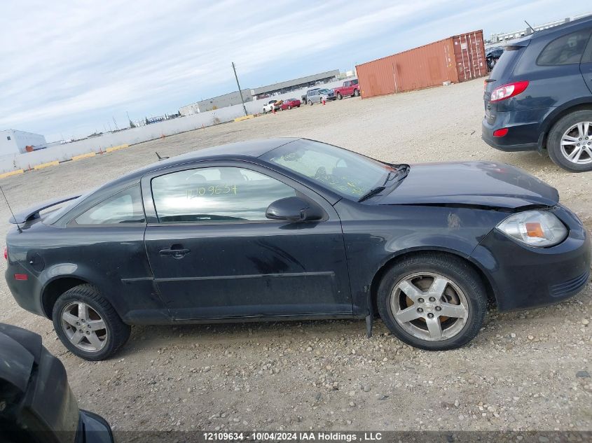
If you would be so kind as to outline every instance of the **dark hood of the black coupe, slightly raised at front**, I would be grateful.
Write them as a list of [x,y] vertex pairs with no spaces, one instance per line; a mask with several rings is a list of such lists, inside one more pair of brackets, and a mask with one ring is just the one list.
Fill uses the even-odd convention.
[[411,165],[399,186],[375,204],[465,204],[516,209],[554,206],[557,190],[509,164],[494,162]]

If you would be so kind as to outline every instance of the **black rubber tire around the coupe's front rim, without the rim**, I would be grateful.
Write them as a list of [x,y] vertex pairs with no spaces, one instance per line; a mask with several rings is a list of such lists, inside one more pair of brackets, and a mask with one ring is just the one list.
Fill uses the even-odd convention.
[[[479,332],[483,324],[487,310],[487,295],[483,283],[471,272],[467,266],[461,266],[455,262],[447,262],[448,260],[434,260],[426,258],[425,260],[405,260],[398,265],[392,267],[383,277],[378,287],[378,311],[383,323],[387,328],[396,335],[402,342],[420,349],[428,351],[443,351],[446,349],[455,349],[467,344]],[[416,272],[433,272],[441,274],[453,281],[464,293],[469,305],[469,318],[465,323],[464,328],[450,339],[439,342],[429,342],[427,340],[413,337],[409,332],[394,320],[390,309],[390,294],[394,286],[405,276],[414,274]]]

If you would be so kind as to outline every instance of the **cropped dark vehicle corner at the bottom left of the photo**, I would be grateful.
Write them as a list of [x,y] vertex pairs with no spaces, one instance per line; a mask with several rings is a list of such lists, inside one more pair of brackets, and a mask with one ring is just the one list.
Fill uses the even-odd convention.
[[0,323],[0,441],[112,443],[102,417],[78,409],[62,362],[34,332]]

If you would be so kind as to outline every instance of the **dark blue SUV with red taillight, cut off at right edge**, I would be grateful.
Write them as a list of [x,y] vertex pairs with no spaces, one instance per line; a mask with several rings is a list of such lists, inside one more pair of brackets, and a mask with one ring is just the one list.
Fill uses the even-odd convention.
[[584,17],[507,46],[486,80],[483,140],[592,171],[591,35],[592,17]]

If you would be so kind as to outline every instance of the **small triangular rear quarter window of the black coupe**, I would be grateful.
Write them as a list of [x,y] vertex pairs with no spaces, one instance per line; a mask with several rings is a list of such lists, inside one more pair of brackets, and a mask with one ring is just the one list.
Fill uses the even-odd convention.
[[118,225],[145,223],[144,206],[139,185],[118,192],[95,204],[74,219],[77,225]]

